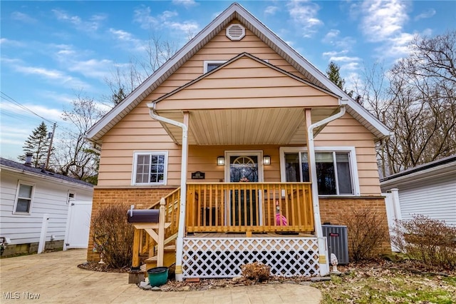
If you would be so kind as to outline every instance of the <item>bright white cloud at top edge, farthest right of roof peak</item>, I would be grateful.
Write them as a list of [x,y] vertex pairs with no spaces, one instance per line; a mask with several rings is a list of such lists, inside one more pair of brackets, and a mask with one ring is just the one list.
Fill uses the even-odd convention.
[[361,31],[368,41],[378,42],[400,34],[408,21],[407,5],[400,0],[363,1]]

